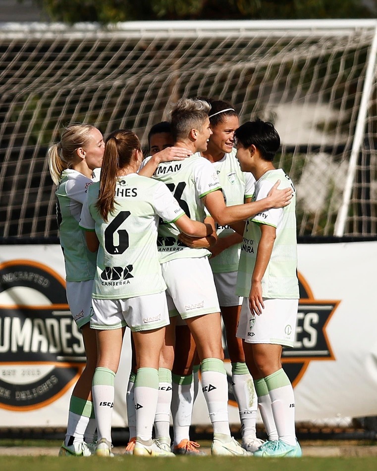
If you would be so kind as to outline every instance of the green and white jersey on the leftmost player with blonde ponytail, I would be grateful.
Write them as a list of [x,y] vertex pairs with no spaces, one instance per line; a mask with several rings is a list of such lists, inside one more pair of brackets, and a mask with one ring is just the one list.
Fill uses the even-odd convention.
[[67,281],[93,280],[96,273],[96,254],[88,250],[85,233],[79,227],[82,205],[96,177],[91,179],[68,168],[62,172],[56,189],[56,214]]

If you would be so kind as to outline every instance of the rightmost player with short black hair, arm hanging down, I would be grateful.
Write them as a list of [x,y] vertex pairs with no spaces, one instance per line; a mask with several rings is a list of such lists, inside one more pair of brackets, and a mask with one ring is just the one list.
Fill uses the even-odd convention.
[[261,445],[254,455],[299,457],[294,393],[281,366],[282,347],[293,347],[300,297],[295,189],[284,170],[272,163],[280,137],[271,123],[248,121],[236,130],[235,143],[241,169],[256,179],[254,201],[262,200],[276,181],[294,192],[289,206],[261,211],[243,224],[237,294],[244,298],[237,337],[244,341],[266,429],[271,422],[277,431],[276,439]]

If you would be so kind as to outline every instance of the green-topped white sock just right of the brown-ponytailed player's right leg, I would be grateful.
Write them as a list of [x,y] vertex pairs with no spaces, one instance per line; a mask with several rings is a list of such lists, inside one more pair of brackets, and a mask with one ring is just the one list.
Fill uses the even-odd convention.
[[155,416],[156,438],[170,437],[170,405],[172,397],[171,371],[159,368],[159,397]]

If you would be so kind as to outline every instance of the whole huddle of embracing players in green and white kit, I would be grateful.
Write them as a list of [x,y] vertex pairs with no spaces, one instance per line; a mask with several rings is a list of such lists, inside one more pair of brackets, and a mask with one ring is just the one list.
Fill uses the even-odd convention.
[[[272,164],[280,138],[269,122],[239,126],[229,103],[196,98],[173,105],[148,143],[143,158],[130,130],[104,142],[94,126],[72,124],[49,149],[67,301],[87,356],[59,455],[112,456],[129,327],[126,453],[204,455],[189,435],[200,371],[213,455],[299,457],[281,366],[299,289],[295,189]],[[221,317],[242,443],[229,428]],[[256,436],[258,409],[267,441]]]

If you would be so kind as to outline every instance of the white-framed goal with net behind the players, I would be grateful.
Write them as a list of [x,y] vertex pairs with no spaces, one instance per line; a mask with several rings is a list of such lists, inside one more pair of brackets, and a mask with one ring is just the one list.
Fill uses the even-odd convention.
[[376,25],[358,21],[0,24],[0,237],[55,237],[46,152],[70,122],[146,145],[171,102],[272,121],[301,236],[377,234]]

